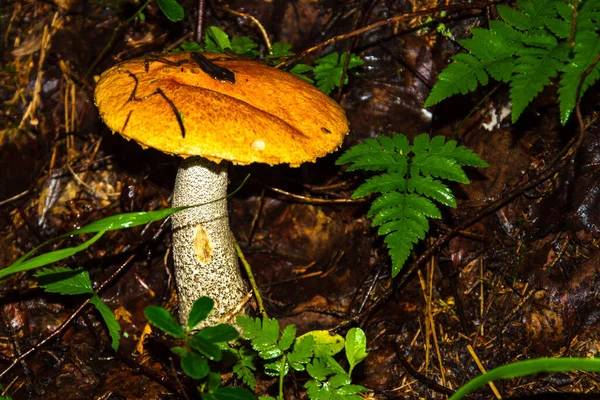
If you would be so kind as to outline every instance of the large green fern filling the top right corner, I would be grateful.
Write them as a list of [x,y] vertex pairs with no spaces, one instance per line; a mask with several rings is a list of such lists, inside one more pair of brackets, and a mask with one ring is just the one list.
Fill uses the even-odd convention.
[[519,10],[497,5],[504,22],[490,21],[489,29],[474,28],[471,39],[460,41],[469,53],[453,57],[425,107],[485,86],[491,77],[510,85],[514,123],[560,75],[560,115],[567,122],[577,96],[600,78],[600,2],[519,0],[517,6]]

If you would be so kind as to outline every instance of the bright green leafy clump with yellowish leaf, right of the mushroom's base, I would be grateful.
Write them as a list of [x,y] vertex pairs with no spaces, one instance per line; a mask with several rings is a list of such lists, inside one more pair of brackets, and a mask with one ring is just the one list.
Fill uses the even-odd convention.
[[[258,357],[267,361],[265,373],[279,377],[277,400],[283,400],[283,381],[290,370],[308,373],[311,379],[304,387],[312,400],[362,399],[358,393],[366,389],[352,384],[351,379],[354,367],[367,356],[366,336],[361,329],[350,329],[344,340],[340,335],[330,335],[328,331],[312,331],[296,337],[295,325],[286,326],[280,333],[276,319],[238,317],[237,323],[243,329],[242,338],[250,342]],[[349,364],[348,371],[333,358],[343,349]],[[247,353],[234,367],[238,377],[247,384],[248,374],[255,369],[250,357]],[[271,396],[260,399],[275,400]]]

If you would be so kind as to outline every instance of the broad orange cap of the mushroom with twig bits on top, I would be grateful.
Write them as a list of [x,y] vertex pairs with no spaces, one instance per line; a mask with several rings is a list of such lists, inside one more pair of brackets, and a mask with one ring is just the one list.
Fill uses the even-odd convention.
[[348,133],[344,110],[293,74],[204,53],[235,75],[235,82],[219,80],[192,55],[149,55],[105,71],[95,102],[108,127],[182,157],[291,166],[334,151]]

